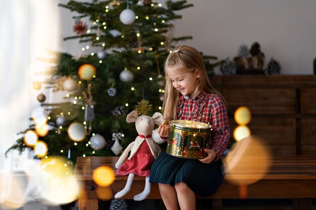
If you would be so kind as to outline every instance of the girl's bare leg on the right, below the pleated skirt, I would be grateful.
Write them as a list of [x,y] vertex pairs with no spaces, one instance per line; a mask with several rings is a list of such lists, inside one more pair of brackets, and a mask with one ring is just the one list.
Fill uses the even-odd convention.
[[175,185],[181,210],[195,210],[195,193],[184,182]]

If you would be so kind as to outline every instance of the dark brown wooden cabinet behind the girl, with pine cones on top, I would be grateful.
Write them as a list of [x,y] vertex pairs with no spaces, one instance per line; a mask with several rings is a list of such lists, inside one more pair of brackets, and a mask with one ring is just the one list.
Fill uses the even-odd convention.
[[261,136],[273,154],[315,154],[316,76],[214,76],[212,84],[227,102],[231,134],[235,110],[246,106],[251,133]]

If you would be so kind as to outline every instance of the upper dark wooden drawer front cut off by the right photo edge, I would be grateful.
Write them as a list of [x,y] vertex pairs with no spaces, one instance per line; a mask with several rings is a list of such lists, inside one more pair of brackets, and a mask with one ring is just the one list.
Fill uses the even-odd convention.
[[316,88],[302,88],[300,90],[300,105],[302,114],[316,114]]

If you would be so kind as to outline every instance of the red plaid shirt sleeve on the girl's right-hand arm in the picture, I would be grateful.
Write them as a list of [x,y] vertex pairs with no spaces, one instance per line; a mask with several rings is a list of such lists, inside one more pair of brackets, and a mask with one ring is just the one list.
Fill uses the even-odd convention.
[[230,139],[227,110],[220,96],[214,97],[211,112],[214,125],[212,150],[217,154],[215,158],[215,161],[217,161],[222,157]]

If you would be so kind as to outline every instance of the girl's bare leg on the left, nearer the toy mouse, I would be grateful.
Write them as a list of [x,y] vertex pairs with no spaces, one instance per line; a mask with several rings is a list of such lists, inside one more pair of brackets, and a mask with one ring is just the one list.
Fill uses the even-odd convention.
[[175,187],[172,187],[169,184],[161,183],[159,183],[158,186],[167,210],[179,210]]

